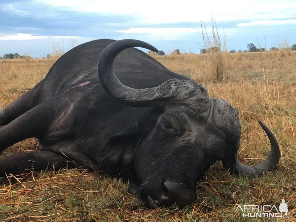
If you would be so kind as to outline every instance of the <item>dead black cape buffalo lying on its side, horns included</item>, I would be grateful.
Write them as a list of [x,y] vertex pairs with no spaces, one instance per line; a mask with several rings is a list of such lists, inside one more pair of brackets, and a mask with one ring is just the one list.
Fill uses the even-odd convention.
[[237,109],[210,99],[203,85],[133,47],[157,52],[132,39],[81,44],[3,109],[0,152],[32,137],[39,139],[41,152],[2,159],[0,176],[32,167],[60,169],[73,160],[129,179],[129,190],[153,208],[191,204],[196,182],[217,160],[251,177],[278,164],[278,143],[261,121],[270,154],[254,167],[241,164],[236,158],[241,135]]

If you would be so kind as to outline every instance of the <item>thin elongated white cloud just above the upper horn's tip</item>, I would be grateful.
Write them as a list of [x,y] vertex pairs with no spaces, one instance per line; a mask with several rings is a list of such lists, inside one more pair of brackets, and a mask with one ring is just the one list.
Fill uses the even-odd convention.
[[122,33],[135,33],[135,34],[155,34],[155,35],[178,35],[178,34],[190,34],[200,32],[200,28],[150,28],[150,27],[138,27],[138,28],[129,28],[126,30],[119,30],[117,32]]

